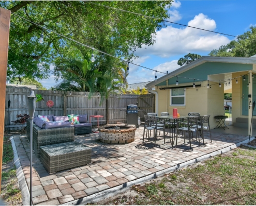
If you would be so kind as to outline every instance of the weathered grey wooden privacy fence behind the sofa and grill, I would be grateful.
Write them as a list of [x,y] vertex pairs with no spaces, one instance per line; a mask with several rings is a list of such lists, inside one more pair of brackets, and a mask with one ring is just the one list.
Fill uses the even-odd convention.
[[[27,113],[27,96],[30,89],[6,88],[5,102],[5,129],[8,130],[8,100],[11,101],[10,113],[10,130],[22,129],[25,125],[14,125],[11,121],[17,120],[18,114]],[[100,124],[115,124],[116,122],[125,122],[126,112],[121,109],[126,109],[127,105],[136,105],[144,111],[139,112],[139,116],[143,117],[146,113],[155,111],[155,95],[122,95],[109,96],[108,101],[103,99],[100,104],[100,95],[97,93],[88,98],[88,92],[66,92],[50,91],[50,90],[35,90],[35,94],[41,94],[44,101],[36,102],[35,115],[50,115],[63,116],[67,114],[87,114],[88,121],[90,115],[103,115],[100,118]],[[86,95],[85,95],[86,94]],[[48,108],[46,102],[53,100],[53,108]],[[108,107],[107,107],[108,105]],[[108,112],[108,115],[107,115]],[[107,119],[108,118],[108,119]],[[96,124],[97,120],[92,119],[92,123]]]

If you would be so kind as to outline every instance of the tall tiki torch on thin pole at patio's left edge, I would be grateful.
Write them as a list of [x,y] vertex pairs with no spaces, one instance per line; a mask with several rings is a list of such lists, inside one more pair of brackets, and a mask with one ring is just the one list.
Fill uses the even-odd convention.
[[31,91],[29,96],[27,97],[27,110],[29,114],[30,122],[30,200],[29,203],[32,205],[32,142],[33,142],[33,118],[36,109],[36,97],[35,92]]

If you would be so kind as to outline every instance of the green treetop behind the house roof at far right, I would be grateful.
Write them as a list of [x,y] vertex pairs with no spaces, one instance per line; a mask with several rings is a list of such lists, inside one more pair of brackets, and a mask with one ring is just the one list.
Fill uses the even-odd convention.
[[256,54],[256,27],[251,26],[250,31],[239,35],[227,45],[212,50],[209,56],[219,57],[251,57]]

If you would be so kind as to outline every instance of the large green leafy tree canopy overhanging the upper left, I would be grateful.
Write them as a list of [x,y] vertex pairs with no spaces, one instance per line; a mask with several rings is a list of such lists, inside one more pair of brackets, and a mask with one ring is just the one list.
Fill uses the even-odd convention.
[[[92,4],[89,1],[1,1],[0,7],[13,13],[7,79],[18,76],[45,79],[53,60],[68,57],[69,50],[77,46],[77,43],[47,29],[42,30],[40,26],[103,52],[113,49],[114,56],[138,58],[134,55],[135,50],[143,44],[153,45],[156,31],[164,27],[164,23],[95,4],[166,19],[169,17],[166,8],[171,6],[171,2],[93,1]],[[44,42],[39,44],[41,32]]]

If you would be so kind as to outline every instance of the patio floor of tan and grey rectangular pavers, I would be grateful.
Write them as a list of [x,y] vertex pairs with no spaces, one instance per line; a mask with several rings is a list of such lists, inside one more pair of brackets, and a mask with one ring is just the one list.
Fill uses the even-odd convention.
[[[142,144],[143,127],[137,129],[135,141],[129,144],[107,144],[99,141],[98,133],[75,136],[75,141],[92,148],[92,163],[49,175],[33,155],[33,204],[58,205],[80,199],[103,190],[145,177],[157,171],[201,157],[246,140],[246,136],[204,132],[206,146],[178,138],[172,147],[170,140],[160,136],[156,147],[152,142]],[[29,186],[29,143],[25,135],[14,136],[23,173]],[[201,141],[202,143],[202,141]]]

